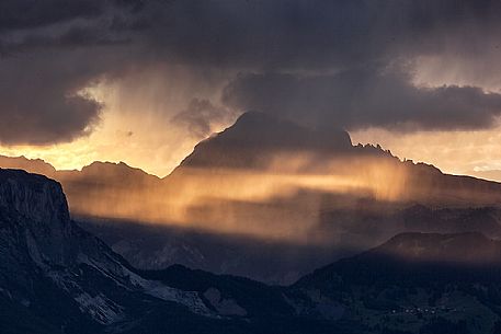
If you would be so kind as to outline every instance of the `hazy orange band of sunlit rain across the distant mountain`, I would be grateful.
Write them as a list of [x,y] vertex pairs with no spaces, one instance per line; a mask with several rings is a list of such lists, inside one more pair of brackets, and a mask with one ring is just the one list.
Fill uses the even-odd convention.
[[407,170],[395,159],[373,163],[371,158],[327,158],[321,168],[306,173],[300,166],[312,165],[315,157],[278,156],[283,168],[277,161],[262,171],[185,168],[161,186],[69,191],[70,209],[94,217],[303,243],[327,242],[323,234],[311,234],[326,209],[356,205],[356,198],[398,203],[410,195]]

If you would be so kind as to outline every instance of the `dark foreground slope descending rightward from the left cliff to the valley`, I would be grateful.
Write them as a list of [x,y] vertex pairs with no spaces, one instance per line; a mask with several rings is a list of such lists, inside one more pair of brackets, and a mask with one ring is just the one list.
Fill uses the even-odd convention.
[[281,288],[181,267],[137,270],[70,220],[57,182],[1,169],[0,311],[1,333],[304,333],[309,327],[323,333],[334,327],[296,316]]

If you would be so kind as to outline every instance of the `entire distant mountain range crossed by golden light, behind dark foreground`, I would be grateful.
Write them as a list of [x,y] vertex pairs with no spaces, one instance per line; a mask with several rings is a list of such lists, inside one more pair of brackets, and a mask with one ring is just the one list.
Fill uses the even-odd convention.
[[141,269],[178,263],[292,283],[401,232],[501,235],[501,184],[261,113],[198,143],[163,178],[125,163],[56,171],[3,157],[0,166],[59,181],[72,217]]

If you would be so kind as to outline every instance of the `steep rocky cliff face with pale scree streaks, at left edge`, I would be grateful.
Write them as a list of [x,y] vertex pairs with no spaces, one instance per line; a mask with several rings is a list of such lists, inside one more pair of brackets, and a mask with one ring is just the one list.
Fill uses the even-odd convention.
[[216,316],[197,293],[143,278],[76,226],[57,182],[14,170],[0,170],[0,303],[3,299],[61,325],[83,321],[88,330],[137,319],[145,301]]

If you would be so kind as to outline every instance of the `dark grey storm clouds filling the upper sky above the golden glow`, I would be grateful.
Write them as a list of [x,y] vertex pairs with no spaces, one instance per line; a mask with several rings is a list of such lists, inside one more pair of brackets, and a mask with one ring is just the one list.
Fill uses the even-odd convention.
[[[181,83],[179,67],[200,84],[181,94],[184,107],[177,101],[159,117],[195,136],[246,110],[345,128],[490,127],[501,96],[482,82],[501,74],[486,65],[501,54],[500,14],[494,0],[4,0],[0,142],[83,136],[104,107],[87,88],[144,90],[150,82],[137,73],[151,68]],[[468,78],[468,65],[486,80],[418,87],[425,58],[439,59],[444,78]],[[204,83],[213,89],[197,91]],[[159,95],[168,100],[170,87]]]

